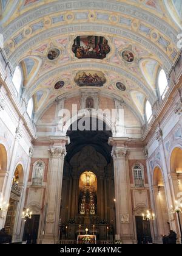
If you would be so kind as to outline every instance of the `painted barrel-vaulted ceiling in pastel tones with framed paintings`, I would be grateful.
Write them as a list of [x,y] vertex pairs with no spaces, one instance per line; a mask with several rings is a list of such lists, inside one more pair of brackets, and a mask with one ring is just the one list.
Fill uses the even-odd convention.
[[21,65],[23,96],[35,98],[35,112],[63,94],[99,87],[143,116],[146,99],[157,99],[158,69],[168,74],[178,58],[176,4],[1,0],[3,52],[12,70]]

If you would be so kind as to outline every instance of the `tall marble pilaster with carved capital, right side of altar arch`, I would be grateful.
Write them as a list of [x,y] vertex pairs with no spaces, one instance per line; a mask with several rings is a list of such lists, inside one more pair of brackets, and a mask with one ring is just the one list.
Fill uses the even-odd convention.
[[115,178],[115,210],[116,210],[116,240],[132,243],[132,205],[129,188],[129,151],[121,146],[113,146],[112,157]]

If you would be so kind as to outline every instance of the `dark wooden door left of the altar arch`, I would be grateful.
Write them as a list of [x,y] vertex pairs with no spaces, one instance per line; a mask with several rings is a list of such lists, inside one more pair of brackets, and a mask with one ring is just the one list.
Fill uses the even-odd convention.
[[36,244],[39,230],[39,219],[40,215],[32,215],[32,219],[25,219],[23,241],[27,241],[27,244]]

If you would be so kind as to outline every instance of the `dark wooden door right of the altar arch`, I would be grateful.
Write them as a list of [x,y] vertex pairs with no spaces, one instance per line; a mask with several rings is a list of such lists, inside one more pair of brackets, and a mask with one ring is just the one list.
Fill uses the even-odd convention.
[[152,243],[150,222],[143,221],[142,216],[136,216],[136,235],[138,244]]

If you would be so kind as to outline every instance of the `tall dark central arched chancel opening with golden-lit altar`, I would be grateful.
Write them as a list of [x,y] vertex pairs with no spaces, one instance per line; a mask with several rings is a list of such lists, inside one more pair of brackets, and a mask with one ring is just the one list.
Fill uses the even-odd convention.
[[[94,118],[93,118],[94,119]],[[90,121],[90,127],[98,119]],[[60,240],[76,241],[79,234],[96,236],[97,241],[113,241],[115,233],[115,204],[113,161],[110,130],[67,131],[70,144],[64,162],[61,201]],[[96,125],[94,126],[96,127]]]

